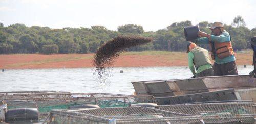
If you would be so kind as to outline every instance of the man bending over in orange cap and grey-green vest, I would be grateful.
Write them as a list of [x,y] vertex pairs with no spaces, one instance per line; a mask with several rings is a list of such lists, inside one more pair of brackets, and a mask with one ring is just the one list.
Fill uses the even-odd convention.
[[214,75],[214,70],[212,70],[211,61],[209,59],[209,53],[206,49],[190,42],[187,44],[187,53],[188,67],[194,75],[193,78]]

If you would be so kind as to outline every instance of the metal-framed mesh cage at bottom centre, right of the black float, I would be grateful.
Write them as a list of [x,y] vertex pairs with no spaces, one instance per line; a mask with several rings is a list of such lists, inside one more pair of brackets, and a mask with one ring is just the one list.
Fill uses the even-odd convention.
[[[139,120],[143,118],[163,118],[180,116],[172,112],[142,107],[116,107],[98,109],[52,110],[49,123],[108,123],[117,120]],[[65,120],[65,121],[64,121]]]

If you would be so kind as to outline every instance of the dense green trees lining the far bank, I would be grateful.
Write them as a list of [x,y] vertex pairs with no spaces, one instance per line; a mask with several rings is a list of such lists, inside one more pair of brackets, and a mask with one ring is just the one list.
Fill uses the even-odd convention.
[[[207,27],[211,25],[212,23],[207,21],[199,23],[200,30],[206,33],[210,33]],[[39,26],[26,27],[19,23],[4,27],[4,24],[0,23],[0,54],[94,53],[101,44],[118,35],[154,38],[154,42],[130,48],[129,51],[184,51],[187,43],[183,33],[184,26],[191,26],[191,21],[175,22],[166,29],[156,32],[145,32],[142,26],[135,24],[119,26],[118,31],[112,31],[103,26],[51,29]],[[251,36],[256,36],[256,28],[248,29],[241,16],[234,18],[231,25],[225,24],[225,30],[232,36],[235,50],[249,48],[246,41],[250,40]]]

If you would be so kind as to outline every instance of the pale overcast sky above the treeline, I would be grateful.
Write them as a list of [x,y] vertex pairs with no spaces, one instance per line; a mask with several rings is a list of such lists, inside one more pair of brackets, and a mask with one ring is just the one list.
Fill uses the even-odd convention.
[[138,24],[145,31],[157,31],[186,20],[194,25],[201,21],[231,24],[240,15],[252,29],[255,7],[255,0],[0,0],[0,22],[53,29],[99,25],[109,30]]

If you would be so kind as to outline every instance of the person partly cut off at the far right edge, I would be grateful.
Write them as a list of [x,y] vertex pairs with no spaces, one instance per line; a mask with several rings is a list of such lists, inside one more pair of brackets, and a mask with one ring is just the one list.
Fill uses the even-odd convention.
[[252,37],[250,41],[248,41],[251,44],[251,48],[253,49],[253,58],[252,58],[252,64],[254,66],[253,71],[251,71],[250,77],[256,78],[256,36]]

